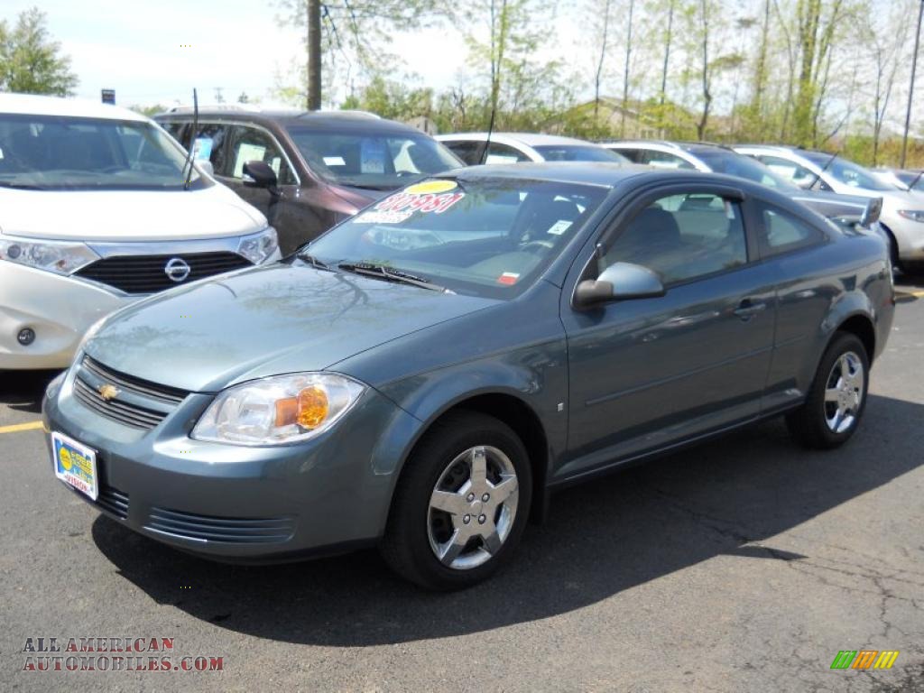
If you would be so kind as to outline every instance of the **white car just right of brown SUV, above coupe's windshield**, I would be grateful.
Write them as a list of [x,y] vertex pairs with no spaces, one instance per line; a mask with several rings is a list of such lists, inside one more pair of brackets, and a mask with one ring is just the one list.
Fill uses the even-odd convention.
[[527,132],[459,132],[436,140],[469,166],[543,161],[600,161],[628,164],[626,157],[585,140]]

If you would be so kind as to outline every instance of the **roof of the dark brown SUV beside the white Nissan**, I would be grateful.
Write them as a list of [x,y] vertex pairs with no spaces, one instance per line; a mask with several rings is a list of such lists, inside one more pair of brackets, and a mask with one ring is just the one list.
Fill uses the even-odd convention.
[[[190,106],[177,106],[154,116],[155,120],[189,120],[193,116]],[[323,129],[356,129],[391,132],[395,134],[423,134],[419,129],[376,116],[365,111],[306,111],[301,108],[261,108],[248,104],[201,106],[199,117],[209,120],[247,121],[267,125],[278,123],[289,127]]]

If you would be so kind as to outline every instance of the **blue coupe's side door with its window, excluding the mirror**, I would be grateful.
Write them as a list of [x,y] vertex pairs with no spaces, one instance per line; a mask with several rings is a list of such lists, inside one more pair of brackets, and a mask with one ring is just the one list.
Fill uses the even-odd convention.
[[[770,366],[774,278],[735,188],[663,187],[620,214],[585,272],[616,261],[662,277],[660,298],[575,310],[565,286],[570,476],[757,417]],[[593,265],[596,265],[594,267]],[[580,272],[580,269],[577,269]]]

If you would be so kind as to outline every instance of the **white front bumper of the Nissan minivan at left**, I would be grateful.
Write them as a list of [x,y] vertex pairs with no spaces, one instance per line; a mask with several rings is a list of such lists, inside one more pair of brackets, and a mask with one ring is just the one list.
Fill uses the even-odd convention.
[[[65,368],[93,322],[140,297],[118,295],[102,285],[0,263],[0,371]],[[22,346],[23,328],[35,341]]]

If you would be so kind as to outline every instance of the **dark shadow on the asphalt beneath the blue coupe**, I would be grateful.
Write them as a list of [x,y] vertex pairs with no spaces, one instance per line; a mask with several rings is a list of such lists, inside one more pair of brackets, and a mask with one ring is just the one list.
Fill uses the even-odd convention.
[[443,638],[570,612],[719,554],[805,558],[772,537],[920,466],[922,418],[922,405],[870,396],[861,431],[838,451],[806,452],[774,420],[559,492],[505,570],[456,593],[419,590],[372,551],[245,567],[106,517],[92,537],[156,602],[234,631],[340,647]]

